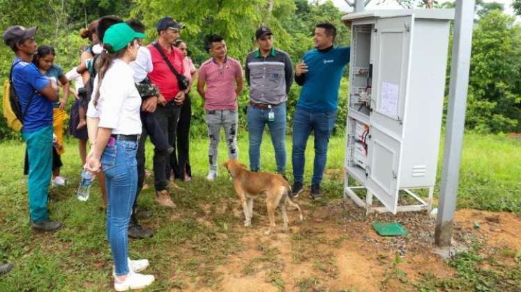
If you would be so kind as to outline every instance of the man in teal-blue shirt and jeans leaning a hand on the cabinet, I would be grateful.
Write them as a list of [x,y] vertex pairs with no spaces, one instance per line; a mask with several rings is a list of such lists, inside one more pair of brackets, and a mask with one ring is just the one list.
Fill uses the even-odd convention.
[[320,183],[326,167],[329,136],[335,126],[338,88],[350,48],[334,47],[336,29],[322,22],[315,26],[315,49],[304,54],[295,67],[295,82],[302,86],[293,118],[293,177],[292,196],[303,188],[305,146],[310,133],[315,135],[315,161],[311,179],[311,198],[320,196]]

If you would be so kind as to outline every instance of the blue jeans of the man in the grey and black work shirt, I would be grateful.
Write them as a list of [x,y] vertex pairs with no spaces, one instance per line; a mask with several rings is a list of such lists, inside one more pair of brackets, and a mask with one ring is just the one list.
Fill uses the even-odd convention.
[[[270,111],[275,113],[275,120],[273,122],[269,122],[268,120]],[[268,124],[271,143],[273,143],[273,148],[275,149],[277,172],[284,173],[286,170],[286,104],[275,106],[272,110],[263,110],[254,106],[248,106],[246,119],[248,120],[248,137],[250,140],[250,169],[252,171],[259,171],[262,133],[264,132],[264,127]]]

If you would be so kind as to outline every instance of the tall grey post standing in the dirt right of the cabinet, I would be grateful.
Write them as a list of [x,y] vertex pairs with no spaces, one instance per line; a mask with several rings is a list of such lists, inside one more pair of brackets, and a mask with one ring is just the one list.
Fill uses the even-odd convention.
[[460,178],[467,90],[469,89],[474,2],[474,0],[456,1],[451,87],[448,95],[445,152],[435,230],[435,243],[439,247],[451,245],[458,198],[458,179]]

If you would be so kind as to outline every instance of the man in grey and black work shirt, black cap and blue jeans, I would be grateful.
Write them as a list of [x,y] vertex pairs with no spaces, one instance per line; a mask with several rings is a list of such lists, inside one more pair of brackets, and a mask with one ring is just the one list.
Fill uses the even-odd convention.
[[250,87],[248,138],[250,169],[259,171],[262,133],[268,124],[275,148],[277,172],[286,170],[286,101],[293,83],[293,65],[289,55],[273,48],[271,30],[261,26],[255,33],[259,49],[246,57],[246,81]]

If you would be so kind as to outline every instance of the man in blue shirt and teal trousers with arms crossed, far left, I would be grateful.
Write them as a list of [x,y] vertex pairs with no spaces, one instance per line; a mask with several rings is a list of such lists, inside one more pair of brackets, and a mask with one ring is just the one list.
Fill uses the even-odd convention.
[[61,227],[61,222],[50,220],[46,206],[52,167],[52,102],[58,99],[58,87],[31,63],[38,47],[37,29],[10,26],[3,41],[15,52],[13,86],[24,112],[22,137],[31,162],[27,179],[31,227],[52,231]]

